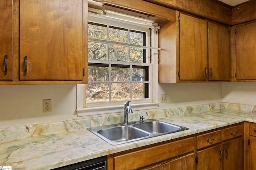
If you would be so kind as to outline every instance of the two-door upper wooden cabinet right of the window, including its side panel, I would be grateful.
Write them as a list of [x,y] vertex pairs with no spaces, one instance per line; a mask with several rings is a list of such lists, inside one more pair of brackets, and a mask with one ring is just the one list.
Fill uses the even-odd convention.
[[230,81],[230,27],[177,15],[160,25],[159,82]]

